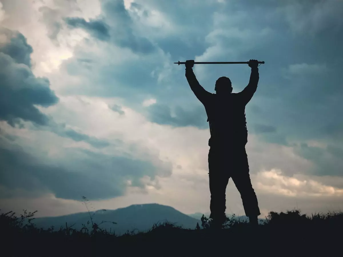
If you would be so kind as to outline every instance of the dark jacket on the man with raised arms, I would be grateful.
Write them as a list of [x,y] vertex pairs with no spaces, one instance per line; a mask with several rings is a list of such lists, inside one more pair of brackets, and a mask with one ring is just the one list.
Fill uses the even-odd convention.
[[196,97],[205,107],[210,126],[209,146],[246,144],[245,106],[252,98],[259,81],[258,68],[251,69],[249,84],[239,93],[212,94],[198,82],[192,68],[186,68],[186,78]]

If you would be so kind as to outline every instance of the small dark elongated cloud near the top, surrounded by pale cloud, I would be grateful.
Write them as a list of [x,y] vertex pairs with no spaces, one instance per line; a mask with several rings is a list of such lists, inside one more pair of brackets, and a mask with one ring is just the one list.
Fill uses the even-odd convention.
[[85,19],[78,17],[67,17],[64,20],[69,26],[73,28],[83,28],[93,37],[98,38],[100,40],[107,41],[110,38],[109,26],[103,21],[90,19],[90,21],[87,22]]

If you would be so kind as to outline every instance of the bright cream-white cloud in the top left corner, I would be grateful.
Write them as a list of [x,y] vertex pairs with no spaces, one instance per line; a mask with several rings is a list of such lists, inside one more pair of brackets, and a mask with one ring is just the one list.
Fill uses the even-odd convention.
[[[31,54],[34,74],[49,77],[50,82],[51,73],[58,71],[61,61],[72,57],[74,47],[89,37],[82,29],[71,32],[62,17],[77,16],[88,21],[95,19],[101,11],[98,0],[36,1],[34,4],[32,1],[2,0],[2,3],[7,15],[1,24],[25,35],[34,49]],[[51,86],[55,90],[54,83]]]

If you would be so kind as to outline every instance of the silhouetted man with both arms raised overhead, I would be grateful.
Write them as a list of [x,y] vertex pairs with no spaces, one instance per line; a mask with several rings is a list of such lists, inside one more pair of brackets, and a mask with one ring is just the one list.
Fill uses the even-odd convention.
[[194,60],[186,61],[186,78],[196,97],[205,107],[210,125],[209,179],[211,203],[210,218],[221,226],[226,220],[225,192],[229,178],[234,181],[243,201],[249,223],[258,224],[261,214],[257,197],[249,176],[248,157],[245,145],[248,131],[245,106],[252,98],[259,81],[258,61],[250,60],[249,84],[240,93],[232,93],[228,77],[220,77],[215,83],[216,94],[206,91],[193,73]]

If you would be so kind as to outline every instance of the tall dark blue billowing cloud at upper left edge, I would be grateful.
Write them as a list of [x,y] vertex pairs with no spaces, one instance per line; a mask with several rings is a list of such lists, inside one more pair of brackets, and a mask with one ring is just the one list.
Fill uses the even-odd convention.
[[32,47],[20,33],[1,28],[8,42],[0,45],[0,119],[14,126],[19,118],[46,125],[49,118],[35,105],[55,105],[58,98],[47,78],[35,77],[31,71]]

